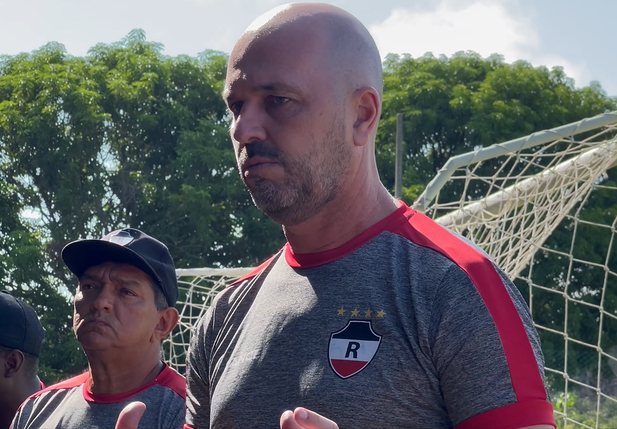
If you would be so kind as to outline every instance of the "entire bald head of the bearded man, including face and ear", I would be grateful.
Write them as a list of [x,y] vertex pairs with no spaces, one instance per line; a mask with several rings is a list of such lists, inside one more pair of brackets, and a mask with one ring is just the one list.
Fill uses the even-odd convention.
[[369,182],[381,186],[382,79],[371,35],[339,8],[291,4],[251,24],[229,58],[223,98],[257,207],[291,227]]

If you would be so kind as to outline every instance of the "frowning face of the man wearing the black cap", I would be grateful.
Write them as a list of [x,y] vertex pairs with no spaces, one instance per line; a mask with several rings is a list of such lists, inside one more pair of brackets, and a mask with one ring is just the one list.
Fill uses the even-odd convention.
[[147,346],[159,321],[150,277],[127,264],[107,262],[79,279],[73,328],[84,350]]

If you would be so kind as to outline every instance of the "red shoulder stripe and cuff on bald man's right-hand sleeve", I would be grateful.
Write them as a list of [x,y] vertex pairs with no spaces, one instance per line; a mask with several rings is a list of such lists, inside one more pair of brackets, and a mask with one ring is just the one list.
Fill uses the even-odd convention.
[[[488,257],[423,214],[409,209],[409,222],[391,232],[454,262],[475,285],[495,323],[508,364],[516,403],[470,418],[457,429],[516,429],[555,426],[553,407],[527,331],[508,289]],[[487,386],[490,389],[490,386]]]

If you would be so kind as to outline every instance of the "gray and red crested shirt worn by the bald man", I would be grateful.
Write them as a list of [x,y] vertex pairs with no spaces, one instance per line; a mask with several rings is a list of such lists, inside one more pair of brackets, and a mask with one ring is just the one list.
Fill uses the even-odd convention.
[[554,425],[527,306],[480,250],[402,205],[343,246],[289,245],[219,294],[192,338],[187,428]]

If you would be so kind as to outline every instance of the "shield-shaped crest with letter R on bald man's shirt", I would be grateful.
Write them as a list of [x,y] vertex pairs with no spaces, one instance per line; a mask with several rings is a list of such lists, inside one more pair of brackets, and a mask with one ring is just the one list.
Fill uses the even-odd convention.
[[330,367],[341,378],[349,378],[371,363],[381,344],[370,320],[350,320],[347,326],[330,335]]

